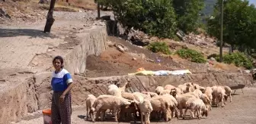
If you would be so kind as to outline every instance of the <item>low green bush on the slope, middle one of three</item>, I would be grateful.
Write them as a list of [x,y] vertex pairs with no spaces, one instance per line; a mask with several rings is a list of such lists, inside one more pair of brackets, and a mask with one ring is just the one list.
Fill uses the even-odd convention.
[[189,48],[182,48],[176,51],[176,54],[178,54],[181,58],[190,60],[195,63],[199,63],[199,64],[206,63],[206,59],[203,57],[203,54],[200,54],[200,52],[189,49]]

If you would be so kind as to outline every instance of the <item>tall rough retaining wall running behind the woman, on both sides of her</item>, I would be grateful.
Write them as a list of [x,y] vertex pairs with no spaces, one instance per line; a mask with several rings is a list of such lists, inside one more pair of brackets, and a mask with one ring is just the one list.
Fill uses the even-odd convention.
[[[74,49],[63,54],[66,69],[70,73],[85,71],[86,57],[90,54],[101,54],[106,48],[106,26],[92,26],[85,33],[78,33],[82,40]],[[0,124],[18,121],[28,113],[50,107],[52,90],[50,87],[51,72],[31,74],[27,79],[8,82],[17,84],[0,93]]]

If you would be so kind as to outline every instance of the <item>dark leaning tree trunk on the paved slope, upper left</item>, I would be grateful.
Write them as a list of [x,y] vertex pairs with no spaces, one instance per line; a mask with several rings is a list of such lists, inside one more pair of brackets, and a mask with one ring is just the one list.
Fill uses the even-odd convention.
[[50,8],[46,17],[46,26],[44,26],[43,33],[50,33],[50,29],[53,26],[54,18],[53,18],[53,10],[56,0],[51,0]]

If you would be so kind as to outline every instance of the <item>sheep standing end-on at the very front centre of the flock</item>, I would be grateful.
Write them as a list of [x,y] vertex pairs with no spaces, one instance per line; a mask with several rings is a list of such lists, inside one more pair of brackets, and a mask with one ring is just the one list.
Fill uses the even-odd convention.
[[150,123],[149,116],[150,116],[150,113],[153,111],[151,102],[148,99],[145,99],[139,102],[139,110],[141,115],[141,123],[143,123],[143,115],[145,115],[145,123],[149,124]]

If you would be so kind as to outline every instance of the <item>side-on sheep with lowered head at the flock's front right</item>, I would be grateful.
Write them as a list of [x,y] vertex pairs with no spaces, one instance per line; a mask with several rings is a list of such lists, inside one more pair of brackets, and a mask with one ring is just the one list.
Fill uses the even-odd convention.
[[[192,115],[192,118],[194,118],[194,110],[197,112],[198,119],[201,119],[201,111],[203,111],[203,115],[208,116],[208,110],[206,108],[206,105],[203,103],[203,101],[199,98],[189,98],[186,102],[186,110],[184,115],[187,113],[187,109],[190,109],[190,115]],[[184,116],[183,116],[184,119]]]

